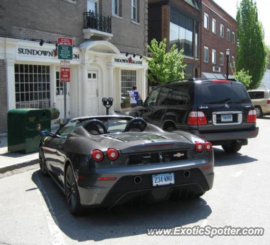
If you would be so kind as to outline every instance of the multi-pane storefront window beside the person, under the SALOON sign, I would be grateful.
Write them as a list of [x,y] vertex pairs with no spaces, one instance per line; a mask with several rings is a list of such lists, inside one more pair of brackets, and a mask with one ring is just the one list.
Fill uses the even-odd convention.
[[121,70],[121,108],[130,107],[129,93],[136,84],[136,70]]

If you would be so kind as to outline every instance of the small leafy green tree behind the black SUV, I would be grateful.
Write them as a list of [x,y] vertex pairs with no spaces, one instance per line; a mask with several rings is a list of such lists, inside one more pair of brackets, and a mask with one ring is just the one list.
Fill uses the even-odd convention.
[[186,65],[183,63],[184,50],[178,50],[176,44],[171,46],[170,50],[166,52],[167,39],[164,38],[160,43],[156,39],[151,41],[148,45],[148,50],[151,53],[151,58],[143,57],[148,63],[149,73],[146,77],[151,82],[158,82],[159,84],[167,83],[174,79],[184,79]]

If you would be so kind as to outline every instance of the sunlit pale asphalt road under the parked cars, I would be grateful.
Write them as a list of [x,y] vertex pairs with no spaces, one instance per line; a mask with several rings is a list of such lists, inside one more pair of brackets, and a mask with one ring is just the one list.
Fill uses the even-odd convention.
[[[0,244],[269,244],[270,117],[239,153],[215,148],[214,187],[202,198],[69,214],[50,178],[32,166],[0,175]],[[146,228],[263,227],[263,236],[147,236]]]

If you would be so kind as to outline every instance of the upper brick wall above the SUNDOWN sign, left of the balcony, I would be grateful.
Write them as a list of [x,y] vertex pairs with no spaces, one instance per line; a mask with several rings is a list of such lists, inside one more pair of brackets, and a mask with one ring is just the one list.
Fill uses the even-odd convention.
[[72,37],[75,45],[83,42],[83,12],[87,1],[1,0],[0,36],[18,39],[57,41]]

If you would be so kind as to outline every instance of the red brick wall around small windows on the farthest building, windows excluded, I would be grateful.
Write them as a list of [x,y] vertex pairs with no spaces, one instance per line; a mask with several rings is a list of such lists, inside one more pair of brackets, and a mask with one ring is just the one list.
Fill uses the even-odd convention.
[[[204,28],[204,13],[209,15],[209,29]],[[232,56],[236,60],[236,42],[237,42],[237,23],[234,18],[228,15],[223,9],[217,6],[211,0],[202,1],[202,39],[201,39],[201,68],[202,72],[213,72],[213,66],[220,67],[220,73],[226,74],[227,72],[227,58],[225,50],[229,48],[230,53],[230,62],[232,62]],[[216,20],[216,34],[212,32],[212,18]],[[224,38],[220,37],[220,23],[224,25]],[[231,30],[230,41],[227,40],[227,28]],[[232,32],[235,33],[235,43],[232,42]],[[204,62],[204,46],[208,47],[208,63]],[[212,64],[212,49],[216,50],[216,64]],[[224,53],[224,65],[220,65],[220,52]],[[229,74],[232,74],[231,69],[229,68]]]

